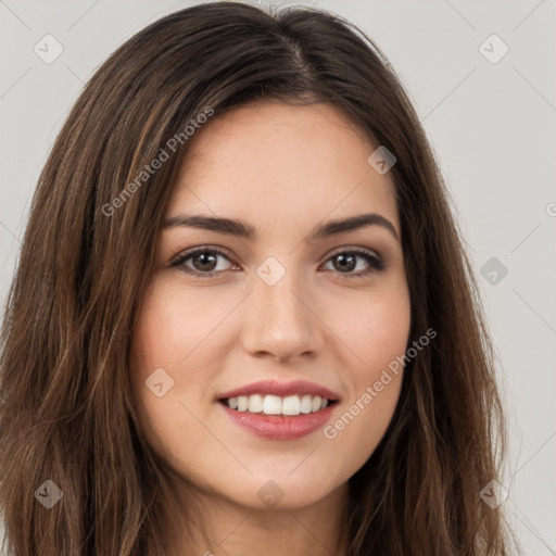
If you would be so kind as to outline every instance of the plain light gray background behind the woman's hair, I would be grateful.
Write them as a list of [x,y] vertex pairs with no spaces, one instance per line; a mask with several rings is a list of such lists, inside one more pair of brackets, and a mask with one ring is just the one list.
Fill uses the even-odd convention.
[[[39,172],[84,83],[136,31],[194,3],[0,0],[2,300]],[[496,344],[511,437],[504,507],[526,554],[556,554],[556,1],[299,3],[359,26],[409,92],[452,191]],[[50,64],[34,51],[46,50],[48,34],[63,48]],[[486,40],[493,34],[509,48],[496,63],[504,46]]]

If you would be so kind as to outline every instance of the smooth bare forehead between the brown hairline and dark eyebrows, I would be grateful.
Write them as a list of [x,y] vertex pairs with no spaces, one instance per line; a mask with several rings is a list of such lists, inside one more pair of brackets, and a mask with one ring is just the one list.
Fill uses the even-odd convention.
[[367,162],[377,147],[329,104],[239,108],[195,131],[167,216],[187,210],[268,226],[380,212],[397,228],[393,179]]

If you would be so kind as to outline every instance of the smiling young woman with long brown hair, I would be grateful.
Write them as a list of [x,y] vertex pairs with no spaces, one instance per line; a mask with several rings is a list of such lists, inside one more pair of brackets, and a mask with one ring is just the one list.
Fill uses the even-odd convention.
[[197,5],[102,65],[40,177],[0,384],[11,554],[508,551],[446,190],[326,12]]

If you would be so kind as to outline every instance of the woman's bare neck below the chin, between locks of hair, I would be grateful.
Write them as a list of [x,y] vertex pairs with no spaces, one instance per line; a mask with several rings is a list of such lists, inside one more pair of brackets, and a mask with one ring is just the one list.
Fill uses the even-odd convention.
[[269,547],[273,556],[345,556],[348,492],[343,484],[308,506],[261,509],[189,486],[187,502],[181,495],[180,503],[197,508],[189,519],[168,506],[169,556],[255,556]]

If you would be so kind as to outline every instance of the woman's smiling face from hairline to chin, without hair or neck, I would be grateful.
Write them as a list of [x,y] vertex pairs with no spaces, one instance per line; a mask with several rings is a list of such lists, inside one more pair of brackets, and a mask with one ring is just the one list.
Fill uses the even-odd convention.
[[410,311],[394,184],[367,162],[377,147],[323,103],[254,103],[191,140],[131,380],[149,443],[200,493],[307,506],[384,434]]

